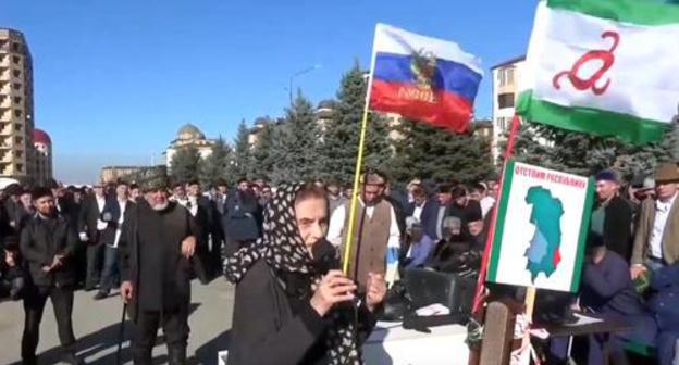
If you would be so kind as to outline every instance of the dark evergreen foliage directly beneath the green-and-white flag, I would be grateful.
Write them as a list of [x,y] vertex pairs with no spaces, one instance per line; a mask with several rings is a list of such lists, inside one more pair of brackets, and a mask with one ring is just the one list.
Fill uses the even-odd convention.
[[659,163],[679,159],[679,130],[672,124],[662,140],[639,146],[612,137],[523,123],[517,136],[514,158],[583,176],[614,167],[630,180],[637,175],[651,175]]

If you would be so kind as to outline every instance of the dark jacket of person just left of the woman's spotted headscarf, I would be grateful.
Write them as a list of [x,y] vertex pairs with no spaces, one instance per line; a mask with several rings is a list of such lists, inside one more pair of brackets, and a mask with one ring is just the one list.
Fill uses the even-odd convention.
[[235,241],[258,239],[261,236],[260,216],[261,209],[254,194],[230,192],[222,216],[225,237]]

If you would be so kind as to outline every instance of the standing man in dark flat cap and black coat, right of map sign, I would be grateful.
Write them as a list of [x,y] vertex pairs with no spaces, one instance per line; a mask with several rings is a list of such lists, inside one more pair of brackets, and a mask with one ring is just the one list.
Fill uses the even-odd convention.
[[606,248],[627,262],[632,256],[632,205],[620,196],[620,175],[607,168],[594,176],[596,203],[592,212],[592,232],[603,238]]

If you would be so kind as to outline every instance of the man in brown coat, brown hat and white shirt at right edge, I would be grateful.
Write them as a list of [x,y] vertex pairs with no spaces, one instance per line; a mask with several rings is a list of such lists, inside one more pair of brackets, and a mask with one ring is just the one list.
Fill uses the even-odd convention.
[[676,163],[663,164],[655,172],[656,199],[643,201],[637,223],[630,269],[632,278],[646,269],[655,272],[679,261],[678,182]]

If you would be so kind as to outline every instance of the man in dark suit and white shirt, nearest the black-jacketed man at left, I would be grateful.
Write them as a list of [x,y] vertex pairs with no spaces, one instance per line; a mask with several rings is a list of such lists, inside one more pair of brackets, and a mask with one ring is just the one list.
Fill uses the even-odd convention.
[[103,240],[101,232],[109,226],[101,221],[101,213],[107,198],[101,184],[94,187],[95,193],[88,196],[83,202],[78,218],[78,234],[81,241],[87,242],[87,275],[85,290],[96,288],[101,279],[101,261],[103,257]]

